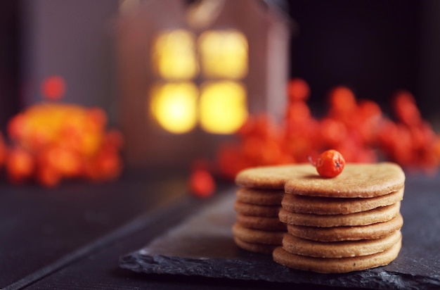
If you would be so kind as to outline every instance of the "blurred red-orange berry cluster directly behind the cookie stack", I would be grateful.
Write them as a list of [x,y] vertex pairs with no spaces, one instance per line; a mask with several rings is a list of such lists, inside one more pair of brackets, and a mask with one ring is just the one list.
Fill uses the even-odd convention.
[[328,94],[328,111],[313,118],[306,103],[309,85],[296,78],[287,86],[283,121],[250,115],[237,133],[238,142],[221,144],[216,162],[221,175],[258,165],[307,162],[308,156],[335,149],[347,162],[389,160],[407,170],[434,172],[440,163],[440,137],[422,120],[412,94],[394,96],[392,120],[374,101],[358,100],[351,89],[335,87]]

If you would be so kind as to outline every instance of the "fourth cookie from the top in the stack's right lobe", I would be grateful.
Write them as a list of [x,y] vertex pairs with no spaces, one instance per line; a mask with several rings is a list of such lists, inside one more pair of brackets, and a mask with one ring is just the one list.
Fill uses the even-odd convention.
[[387,222],[357,227],[304,227],[287,225],[287,232],[313,241],[356,241],[360,239],[380,239],[387,237],[403,226],[403,217],[399,213]]

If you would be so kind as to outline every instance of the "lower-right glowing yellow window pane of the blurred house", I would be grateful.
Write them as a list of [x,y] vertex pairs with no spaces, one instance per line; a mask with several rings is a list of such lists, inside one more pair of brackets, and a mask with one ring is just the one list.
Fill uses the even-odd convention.
[[246,90],[238,82],[210,82],[202,85],[200,125],[214,134],[231,134],[247,118]]

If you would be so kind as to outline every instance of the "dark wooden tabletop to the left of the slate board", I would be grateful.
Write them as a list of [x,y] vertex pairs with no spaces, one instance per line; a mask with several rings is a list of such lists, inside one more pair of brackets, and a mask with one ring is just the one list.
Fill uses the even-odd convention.
[[[179,174],[145,172],[105,184],[66,182],[56,189],[2,182],[0,289],[108,289],[118,281],[122,286],[116,288],[123,289],[130,275],[119,271],[119,255],[142,246],[200,203],[186,192],[186,177]],[[130,237],[137,231],[145,232],[134,241]],[[103,251],[111,253],[96,260]],[[78,277],[61,278],[74,268],[82,271]],[[54,284],[48,282],[52,277]]]

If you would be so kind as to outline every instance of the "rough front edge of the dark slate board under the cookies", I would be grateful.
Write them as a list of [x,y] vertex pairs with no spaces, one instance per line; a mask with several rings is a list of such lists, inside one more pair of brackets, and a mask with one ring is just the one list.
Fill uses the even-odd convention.
[[[142,250],[141,250],[142,251]],[[439,289],[440,279],[420,275],[402,275],[377,267],[347,274],[318,274],[293,270],[274,263],[259,261],[182,258],[135,251],[122,256],[119,266],[145,274],[174,274],[266,282],[316,284],[322,286],[359,287],[366,289]],[[268,269],[264,276],[254,275],[255,267]],[[259,270],[261,272],[261,270]],[[317,279],[320,277],[320,279]]]

